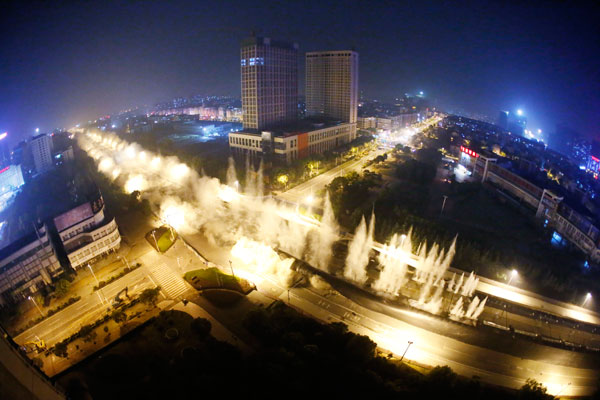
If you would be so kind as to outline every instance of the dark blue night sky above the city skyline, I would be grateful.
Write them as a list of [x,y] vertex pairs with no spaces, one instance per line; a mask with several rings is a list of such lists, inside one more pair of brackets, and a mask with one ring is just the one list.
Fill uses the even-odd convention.
[[176,96],[239,97],[239,43],[255,30],[301,55],[354,47],[367,98],[423,90],[448,109],[522,108],[532,129],[565,122],[600,137],[592,3],[3,2],[0,132],[14,144]]

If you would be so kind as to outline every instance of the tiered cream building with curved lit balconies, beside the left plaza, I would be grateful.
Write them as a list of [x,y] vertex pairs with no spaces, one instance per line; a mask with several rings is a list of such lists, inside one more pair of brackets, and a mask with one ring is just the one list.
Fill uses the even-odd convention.
[[118,250],[121,244],[115,219],[104,215],[102,196],[54,218],[54,225],[71,267],[75,269]]

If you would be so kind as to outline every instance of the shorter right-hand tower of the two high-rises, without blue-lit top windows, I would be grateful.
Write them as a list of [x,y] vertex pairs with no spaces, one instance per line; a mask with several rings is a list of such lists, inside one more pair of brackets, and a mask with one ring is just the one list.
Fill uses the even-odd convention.
[[356,124],[358,53],[306,53],[306,114]]

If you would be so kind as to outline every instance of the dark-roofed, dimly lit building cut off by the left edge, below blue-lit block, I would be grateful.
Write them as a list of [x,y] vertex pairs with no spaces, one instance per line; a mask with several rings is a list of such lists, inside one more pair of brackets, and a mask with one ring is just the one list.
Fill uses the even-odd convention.
[[46,225],[0,250],[0,304],[27,298],[63,271]]

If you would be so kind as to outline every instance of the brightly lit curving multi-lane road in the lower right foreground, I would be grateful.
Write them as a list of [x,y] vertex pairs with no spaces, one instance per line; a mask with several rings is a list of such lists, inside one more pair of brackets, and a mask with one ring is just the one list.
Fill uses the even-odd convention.
[[[287,294],[281,299],[287,300]],[[290,301],[323,321],[344,322],[350,330],[369,336],[380,347],[398,356],[411,341],[407,359],[428,365],[448,365],[463,376],[477,376],[487,383],[516,389],[528,378],[535,378],[551,393],[570,396],[590,395],[597,387],[599,374],[595,369],[523,359],[466,344],[374,312],[339,294],[323,296],[309,289],[292,289]],[[410,318],[427,318],[423,314],[405,312],[412,314],[408,315]]]

